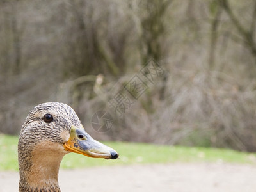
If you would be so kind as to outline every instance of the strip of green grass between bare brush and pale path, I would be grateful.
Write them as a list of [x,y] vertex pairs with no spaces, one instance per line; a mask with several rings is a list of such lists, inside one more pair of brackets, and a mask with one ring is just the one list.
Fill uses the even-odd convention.
[[[17,136],[0,134],[0,170],[18,170]],[[234,150],[150,145],[145,143],[104,142],[120,154],[116,160],[92,159],[80,154],[67,154],[61,168],[83,168],[88,166],[112,166],[116,164],[149,163],[241,163],[256,164],[256,154]]]

